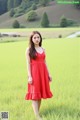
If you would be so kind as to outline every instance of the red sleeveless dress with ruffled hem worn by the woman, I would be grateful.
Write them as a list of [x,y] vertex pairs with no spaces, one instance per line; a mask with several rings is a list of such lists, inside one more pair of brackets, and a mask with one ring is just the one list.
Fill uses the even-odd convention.
[[45,53],[36,53],[36,59],[31,59],[31,75],[33,83],[28,83],[26,100],[51,98],[53,95],[49,86],[49,75],[45,64]]

